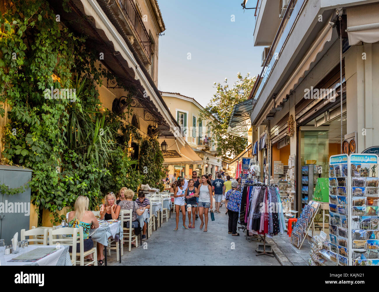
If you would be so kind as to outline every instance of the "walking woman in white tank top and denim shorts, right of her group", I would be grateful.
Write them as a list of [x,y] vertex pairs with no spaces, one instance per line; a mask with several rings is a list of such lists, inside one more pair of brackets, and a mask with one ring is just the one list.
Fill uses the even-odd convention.
[[[197,189],[196,196],[199,196],[199,215],[200,215],[200,229],[203,229],[204,221],[205,221],[205,228],[204,232],[208,231],[208,210],[211,208],[212,210],[212,186],[210,185],[210,182],[208,181],[207,174],[203,174],[201,176],[202,184]],[[203,213],[205,220],[203,220]]]

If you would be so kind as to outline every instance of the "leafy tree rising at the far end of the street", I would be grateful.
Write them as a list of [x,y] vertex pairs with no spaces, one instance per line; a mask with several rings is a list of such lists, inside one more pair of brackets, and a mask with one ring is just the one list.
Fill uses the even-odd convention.
[[233,157],[247,146],[246,138],[227,133],[227,129],[233,105],[248,99],[255,79],[256,77],[250,77],[250,73],[243,77],[238,72],[237,80],[233,82],[232,86],[229,86],[227,78],[222,83],[214,83],[213,87],[216,88],[216,93],[204,110],[200,112],[200,118],[213,119],[208,122],[208,125],[211,127],[212,141],[217,143],[218,155]]

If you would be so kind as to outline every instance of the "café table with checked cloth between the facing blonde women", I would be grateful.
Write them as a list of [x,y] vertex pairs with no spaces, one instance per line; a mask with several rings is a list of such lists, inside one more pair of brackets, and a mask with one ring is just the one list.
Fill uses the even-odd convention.
[[[100,222],[105,222],[103,220],[100,220]],[[116,239],[116,234],[119,237],[119,258],[121,263],[121,245],[122,245],[122,239],[124,238],[124,232],[122,231],[121,221],[118,220],[118,222],[108,224],[106,226],[100,225],[99,228],[91,229],[89,231],[89,236],[91,236],[93,241],[99,242],[104,246],[105,251],[105,265],[106,265],[106,247],[108,246],[108,238],[113,237],[113,239]]]

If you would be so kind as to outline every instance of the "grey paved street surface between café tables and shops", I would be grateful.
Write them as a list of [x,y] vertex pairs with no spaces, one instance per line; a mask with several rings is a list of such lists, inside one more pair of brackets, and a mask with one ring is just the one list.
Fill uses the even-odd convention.
[[[213,206],[215,201],[213,200]],[[222,212],[221,212],[222,211]],[[127,243],[121,265],[280,265],[276,258],[255,256],[256,242],[249,242],[241,232],[240,236],[228,234],[228,216],[222,205],[215,221],[208,223],[208,232],[199,229],[200,218],[193,229],[182,228],[182,213],[179,212],[179,229],[175,228],[175,214],[171,213],[168,222],[163,221],[161,228],[153,231],[151,239],[143,241],[145,245],[132,248],[129,253]],[[186,218],[188,224],[188,218]],[[232,243],[235,249],[232,250]],[[116,252],[111,251],[108,265],[120,265],[116,261]]]

